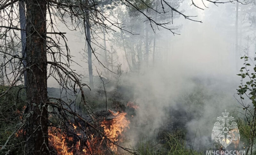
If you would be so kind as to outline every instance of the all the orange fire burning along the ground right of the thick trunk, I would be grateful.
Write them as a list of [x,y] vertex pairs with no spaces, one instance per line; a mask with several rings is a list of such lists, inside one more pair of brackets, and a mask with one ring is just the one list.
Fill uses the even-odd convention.
[[[90,137],[86,138],[86,141],[83,141],[83,138],[75,141],[73,137],[67,136],[67,134],[62,132],[61,129],[51,127],[48,129],[50,146],[56,150],[58,155],[102,154],[102,152],[106,151],[107,149],[106,145],[111,151],[117,152],[117,146],[110,141],[114,143],[122,142],[122,138],[124,137],[123,132],[126,130],[126,128],[129,128],[130,121],[125,117],[126,113],[124,112],[110,112],[114,118],[109,120],[104,119],[100,125],[103,127],[104,133],[108,140],[106,140],[105,137],[101,138],[92,134]],[[82,133],[79,133],[75,124],[72,124],[72,126],[77,137],[83,136]],[[105,141],[103,142],[104,139]]]

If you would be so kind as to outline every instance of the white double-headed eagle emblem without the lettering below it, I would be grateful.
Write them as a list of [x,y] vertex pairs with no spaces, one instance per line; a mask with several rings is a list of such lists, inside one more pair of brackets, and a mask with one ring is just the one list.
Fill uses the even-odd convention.
[[227,112],[227,110],[222,112],[222,115],[223,117],[217,117],[219,122],[214,123],[212,129],[212,140],[220,142],[220,144],[226,148],[232,143],[232,141],[239,140],[240,134],[237,123],[233,122],[234,117],[228,117],[229,112]]

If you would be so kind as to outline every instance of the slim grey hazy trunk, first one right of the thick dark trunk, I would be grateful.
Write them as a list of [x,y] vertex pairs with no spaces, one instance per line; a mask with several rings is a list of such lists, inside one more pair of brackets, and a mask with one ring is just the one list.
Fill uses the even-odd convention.
[[[85,1],[85,5],[89,6],[89,1]],[[89,7],[88,7],[89,8]],[[87,40],[87,47],[88,47],[88,69],[89,69],[89,81],[90,81],[90,87],[93,89],[93,75],[92,75],[92,47],[91,47],[91,26],[89,22],[89,11],[86,10],[86,40]]]

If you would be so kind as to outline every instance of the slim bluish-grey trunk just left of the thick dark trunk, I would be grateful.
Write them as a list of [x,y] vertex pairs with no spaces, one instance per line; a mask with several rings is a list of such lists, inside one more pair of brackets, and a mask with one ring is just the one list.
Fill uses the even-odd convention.
[[[20,13],[20,36],[21,36],[21,47],[22,47],[22,58],[26,59],[26,16],[25,16],[25,5],[24,0],[19,1],[19,13]],[[22,60],[23,67],[27,67],[26,60]],[[27,86],[27,72],[24,72],[24,84]]]

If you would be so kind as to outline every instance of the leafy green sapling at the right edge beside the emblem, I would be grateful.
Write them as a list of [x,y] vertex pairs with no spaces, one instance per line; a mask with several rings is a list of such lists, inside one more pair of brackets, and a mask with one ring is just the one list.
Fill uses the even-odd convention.
[[[244,148],[246,148],[246,154],[250,152],[250,154],[255,154],[255,118],[256,118],[256,67],[253,67],[253,71],[250,71],[251,64],[248,63],[248,57],[243,56],[241,59],[244,60],[244,67],[240,69],[241,74],[237,74],[241,77],[241,83],[239,86],[238,95],[241,98],[241,102],[239,102],[245,112],[245,121],[239,120],[239,131],[241,134],[241,139],[244,140]],[[254,58],[256,60],[256,58]],[[245,81],[245,82],[244,82]],[[244,104],[243,100],[244,96],[246,97],[246,101],[249,100],[253,104],[253,108],[249,105]]]

